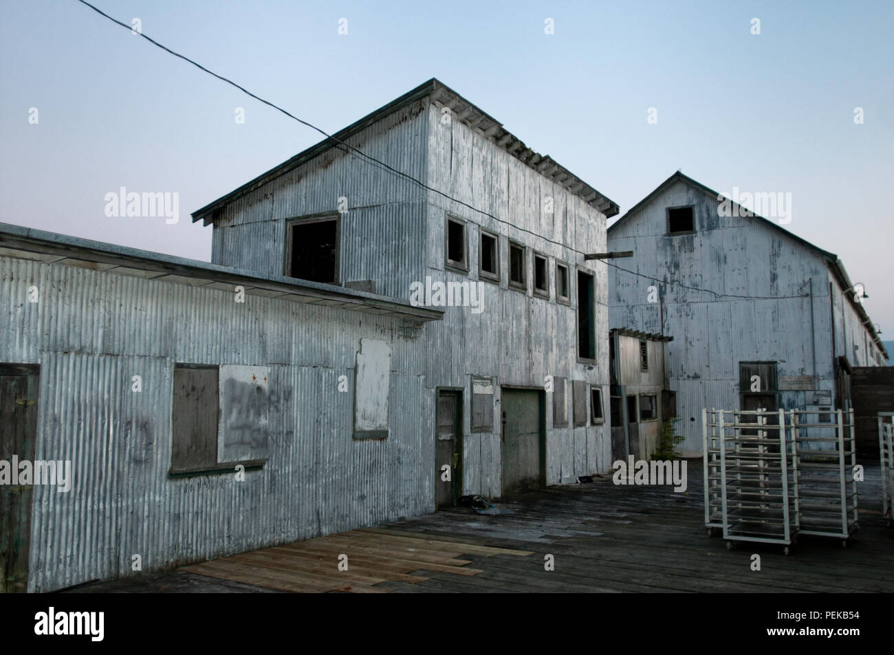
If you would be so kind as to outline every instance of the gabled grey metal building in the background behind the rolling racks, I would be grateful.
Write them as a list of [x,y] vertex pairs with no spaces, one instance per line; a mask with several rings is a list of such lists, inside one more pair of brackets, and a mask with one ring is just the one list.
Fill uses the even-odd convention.
[[889,357],[837,256],[723,203],[676,172],[608,230],[611,251],[634,253],[608,266],[611,327],[674,338],[693,450],[703,407],[848,408],[851,367]]

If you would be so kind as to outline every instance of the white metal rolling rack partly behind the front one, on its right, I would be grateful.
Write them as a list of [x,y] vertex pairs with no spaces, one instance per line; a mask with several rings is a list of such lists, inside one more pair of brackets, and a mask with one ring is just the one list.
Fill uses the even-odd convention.
[[799,533],[838,537],[847,546],[859,530],[854,410],[790,410],[788,415],[796,453]]

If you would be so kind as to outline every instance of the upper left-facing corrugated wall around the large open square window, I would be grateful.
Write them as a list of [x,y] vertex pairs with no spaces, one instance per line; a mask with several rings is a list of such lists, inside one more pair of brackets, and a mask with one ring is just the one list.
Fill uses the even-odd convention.
[[[410,105],[348,139],[367,155],[426,176],[427,113]],[[339,148],[326,151],[227,206],[215,224],[212,261],[266,274],[283,274],[286,221],[308,214],[342,214],[342,281],[375,281],[376,293],[409,298],[424,268],[425,192],[415,182]]]

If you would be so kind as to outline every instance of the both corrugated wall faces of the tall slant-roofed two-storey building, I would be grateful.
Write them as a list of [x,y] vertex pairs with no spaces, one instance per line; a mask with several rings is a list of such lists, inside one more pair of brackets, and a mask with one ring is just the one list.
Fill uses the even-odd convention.
[[[349,199],[342,223],[342,280],[373,280],[379,293],[409,298],[410,284],[433,281],[477,281],[476,225],[501,236],[500,286],[484,283],[482,314],[469,307],[447,307],[443,322],[423,328],[427,351],[426,388],[434,402],[437,387],[461,387],[470,407],[472,375],[492,377],[496,384],[543,388],[546,375],[586,380],[603,386],[608,396],[608,303],[606,266],[584,262],[571,249],[606,248],[605,217],[579,197],[497,147],[459,121],[442,122],[439,107],[427,98],[371,125],[350,143],[364,152],[409,172],[455,197],[452,202],[417,184],[383,172],[355,157],[329,151],[283,175],[227,207],[215,227],[213,261],[263,273],[282,273],[285,222],[288,218],[334,211],[338,197]],[[552,197],[554,213],[544,212]],[[474,212],[475,206],[511,225]],[[469,273],[444,270],[445,214],[468,221]],[[524,231],[527,230],[527,231]],[[506,237],[550,257],[553,298],[534,298],[508,290]],[[275,244],[271,246],[271,244]],[[554,300],[555,258],[570,265],[572,307]],[[597,362],[592,370],[577,363],[575,266],[595,274]],[[527,258],[530,286],[532,257]],[[494,400],[500,399],[499,390]],[[570,394],[568,397],[570,412]],[[552,403],[547,402],[547,480],[573,482],[581,474],[611,468],[608,427],[552,428]],[[432,406],[434,407],[434,405]],[[500,420],[499,404],[494,412]],[[501,494],[500,437],[497,432],[471,432],[468,411],[465,432],[463,493]],[[425,416],[426,435],[434,441],[434,417]]]

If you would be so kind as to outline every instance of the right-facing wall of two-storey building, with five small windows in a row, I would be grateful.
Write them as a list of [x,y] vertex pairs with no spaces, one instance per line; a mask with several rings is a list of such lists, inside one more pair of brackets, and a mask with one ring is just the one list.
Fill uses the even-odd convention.
[[[494,432],[470,432],[465,426],[466,448],[463,493],[499,496],[501,493],[500,389],[499,385],[544,388],[547,375],[586,380],[603,388],[608,398],[608,307],[605,265],[585,262],[583,252],[605,249],[605,217],[579,197],[544,178],[502,147],[483,139],[459,121],[444,123],[441,110],[429,108],[428,183],[461,202],[440,194],[428,194],[427,268],[419,280],[430,275],[438,281],[477,281],[480,228],[499,235],[502,281],[484,281],[481,314],[468,307],[448,307],[444,320],[426,324],[435,355],[426,365],[426,386],[468,387],[471,375],[493,377],[498,389]],[[553,213],[545,210],[551,197]],[[501,219],[473,211],[470,206]],[[468,274],[444,265],[446,215],[467,221]],[[509,222],[502,223],[502,221]],[[533,234],[531,233],[533,232]],[[549,259],[550,299],[532,294],[533,256],[527,255],[527,294],[509,289],[507,239],[534,248]],[[547,239],[558,241],[553,244]],[[569,264],[572,306],[555,301],[555,260]],[[577,275],[575,266],[595,275],[596,365],[592,370],[577,361]],[[571,394],[566,394],[571,416]],[[604,473],[611,469],[609,427],[588,425],[553,428],[552,399],[546,398],[547,483],[572,483],[578,475]],[[587,402],[589,408],[589,400]],[[467,413],[468,416],[468,413]]]

